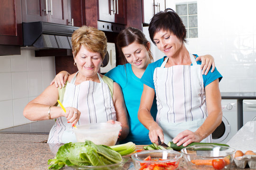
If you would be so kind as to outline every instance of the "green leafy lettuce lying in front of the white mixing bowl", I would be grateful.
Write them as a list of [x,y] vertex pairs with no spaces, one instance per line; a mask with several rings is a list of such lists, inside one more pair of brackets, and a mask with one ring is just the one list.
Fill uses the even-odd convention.
[[109,146],[97,145],[91,141],[62,145],[55,159],[48,160],[48,169],[59,170],[67,166],[101,166],[122,161],[122,156]]

